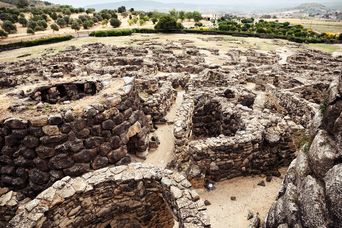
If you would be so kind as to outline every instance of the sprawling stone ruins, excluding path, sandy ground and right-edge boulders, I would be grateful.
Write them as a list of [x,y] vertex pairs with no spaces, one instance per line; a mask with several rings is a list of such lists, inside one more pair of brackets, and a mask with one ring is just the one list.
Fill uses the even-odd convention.
[[[136,44],[88,44],[0,64],[1,224],[15,216],[8,226],[172,227],[176,220],[209,227],[185,178],[202,188],[279,176],[342,73],[341,59],[309,50],[284,64],[272,51],[225,53],[188,40]],[[218,57],[222,64],[211,62]],[[165,115],[179,90],[185,94],[173,123]],[[127,166],[157,146],[150,136],[164,122],[175,138],[168,168],[184,177]]]

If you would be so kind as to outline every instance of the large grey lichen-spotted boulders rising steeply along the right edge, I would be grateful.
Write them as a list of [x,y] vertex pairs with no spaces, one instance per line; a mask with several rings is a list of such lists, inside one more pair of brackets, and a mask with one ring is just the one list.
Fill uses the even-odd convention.
[[341,86],[341,77],[331,84],[321,125],[291,163],[265,227],[341,227]]

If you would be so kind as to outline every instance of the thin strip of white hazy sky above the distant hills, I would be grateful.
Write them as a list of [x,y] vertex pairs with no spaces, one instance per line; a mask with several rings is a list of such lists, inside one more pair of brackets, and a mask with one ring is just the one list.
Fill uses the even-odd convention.
[[[296,4],[301,4],[301,3],[308,3],[308,2],[318,2],[318,3],[324,3],[329,0],[241,0],[241,1],[236,1],[236,0],[155,0],[159,2],[165,2],[165,3],[170,3],[170,2],[181,2],[181,3],[192,3],[192,4],[239,4],[239,5],[248,5],[248,4],[260,4],[260,5],[266,5],[266,4],[279,4],[279,5],[289,5],[293,6]],[[99,4],[99,3],[110,3],[110,2],[120,2],[119,0],[86,0],[86,1],[81,1],[81,0],[50,0],[52,3],[57,3],[57,4],[68,4],[68,5],[73,5],[73,6],[87,6],[87,5],[93,5],[93,4]]]

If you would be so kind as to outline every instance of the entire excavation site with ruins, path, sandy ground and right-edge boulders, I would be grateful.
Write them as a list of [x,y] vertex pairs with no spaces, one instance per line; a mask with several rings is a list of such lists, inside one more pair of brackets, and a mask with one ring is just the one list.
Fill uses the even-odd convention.
[[0,227],[341,227],[342,57],[154,36],[0,62]]

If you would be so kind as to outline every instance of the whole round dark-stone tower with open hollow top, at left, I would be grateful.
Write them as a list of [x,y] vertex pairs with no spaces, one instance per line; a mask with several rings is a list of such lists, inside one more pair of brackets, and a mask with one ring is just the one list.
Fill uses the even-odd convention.
[[1,95],[0,186],[33,197],[64,176],[130,162],[148,147],[134,78],[23,86]]

